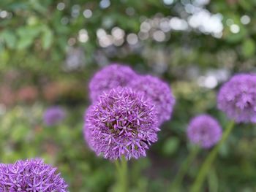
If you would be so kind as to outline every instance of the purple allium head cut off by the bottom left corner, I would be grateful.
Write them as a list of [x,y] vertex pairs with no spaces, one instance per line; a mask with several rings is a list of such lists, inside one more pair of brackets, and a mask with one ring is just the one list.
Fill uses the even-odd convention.
[[0,191],[66,192],[67,183],[56,168],[40,159],[0,164]]

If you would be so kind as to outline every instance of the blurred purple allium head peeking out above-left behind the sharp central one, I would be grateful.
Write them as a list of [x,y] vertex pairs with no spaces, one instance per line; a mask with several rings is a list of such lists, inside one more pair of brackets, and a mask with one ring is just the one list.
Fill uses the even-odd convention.
[[126,87],[137,74],[129,67],[119,64],[105,66],[94,74],[89,83],[91,101],[96,101],[103,91],[110,91],[118,86]]

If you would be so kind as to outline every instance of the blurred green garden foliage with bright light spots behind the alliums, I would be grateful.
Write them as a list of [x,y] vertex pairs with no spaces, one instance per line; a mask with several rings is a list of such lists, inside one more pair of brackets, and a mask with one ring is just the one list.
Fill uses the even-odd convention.
[[[218,118],[216,94],[230,75],[255,72],[255,0],[2,0],[0,1],[0,156],[45,158],[70,191],[112,191],[114,166],[83,140],[88,82],[101,66],[129,64],[161,77],[177,99],[147,158],[130,161],[130,191],[167,191],[191,146],[189,119]],[[59,126],[42,122],[60,105]],[[256,128],[238,124],[202,191],[256,191]],[[189,191],[201,150],[184,180]]]

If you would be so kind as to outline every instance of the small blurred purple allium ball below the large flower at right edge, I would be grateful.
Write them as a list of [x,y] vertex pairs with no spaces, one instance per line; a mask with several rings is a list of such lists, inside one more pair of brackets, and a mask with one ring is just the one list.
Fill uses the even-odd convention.
[[198,115],[190,121],[187,137],[192,143],[207,149],[219,142],[222,128],[210,115]]

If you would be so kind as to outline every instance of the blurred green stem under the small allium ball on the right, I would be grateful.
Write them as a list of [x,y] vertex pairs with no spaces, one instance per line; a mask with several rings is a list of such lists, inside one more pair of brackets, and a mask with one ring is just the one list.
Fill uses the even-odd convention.
[[180,191],[182,180],[184,179],[185,174],[187,173],[187,170],[189,169],[189,166],[192,164],[192,161],[194,161],[197,153],[199,151],[199,147],[194,147],[192,150],[190,150],[189,155],[187,156],[187,159],[182,163],[181,169],[179,169],[178,174],[176,174],[176,177],[174,178],[173,182],[170,184],[169,191]]

